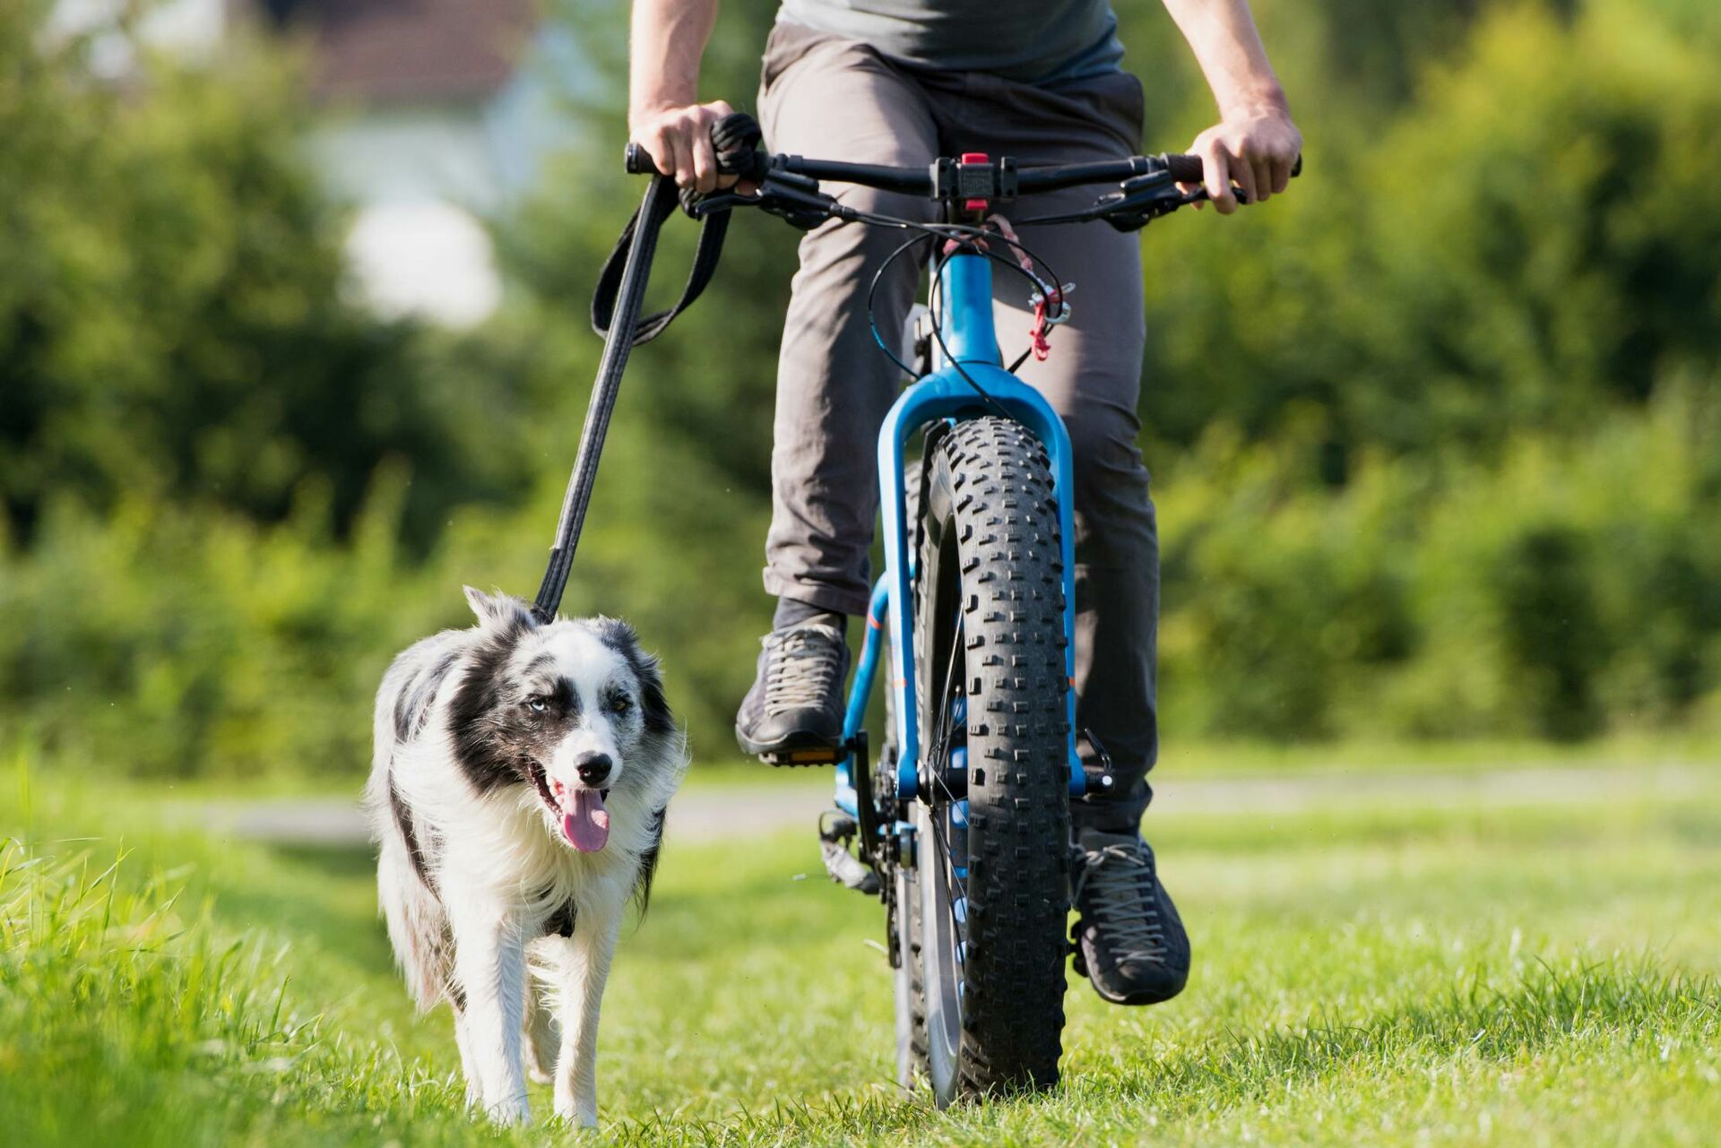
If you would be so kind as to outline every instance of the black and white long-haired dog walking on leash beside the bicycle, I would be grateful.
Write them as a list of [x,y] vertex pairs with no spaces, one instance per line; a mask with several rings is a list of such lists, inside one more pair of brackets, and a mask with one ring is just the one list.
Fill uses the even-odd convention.
[[420,1009],[454,1009],[466,1100],[597,1124],[597,1010],[616,933],[644,909],[685,742],[652,657],[609,618],[478,614],[394,659],[367,805],[394,957]]

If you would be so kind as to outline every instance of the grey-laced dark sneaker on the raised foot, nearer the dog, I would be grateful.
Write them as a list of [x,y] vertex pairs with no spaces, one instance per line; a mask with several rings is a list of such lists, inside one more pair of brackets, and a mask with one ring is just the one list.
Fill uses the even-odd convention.
[[843,632],[816,614],[759,644],[759,676],[735,714],[735,740],[773,764],[830,761],[843,744]]

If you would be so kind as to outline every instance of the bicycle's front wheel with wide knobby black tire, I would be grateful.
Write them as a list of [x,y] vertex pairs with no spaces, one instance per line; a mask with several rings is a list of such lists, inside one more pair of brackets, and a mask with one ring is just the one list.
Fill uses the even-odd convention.
[[914,997],[898,1017],[948,1105],[1058,1079],[1069,683],[1045,449],[1021,423],[978,418],[929,451],[914,635],[922,797],[898,885],[917,967],[898,978]]

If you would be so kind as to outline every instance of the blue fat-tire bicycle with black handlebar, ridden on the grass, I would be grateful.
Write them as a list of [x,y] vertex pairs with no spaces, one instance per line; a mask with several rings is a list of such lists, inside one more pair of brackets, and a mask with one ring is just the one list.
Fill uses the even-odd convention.
[[[1206,198],[1201,162],[1138,155],[1019,169],[969,153],[924,169],[847,164],[766,155],[743,115],[718,124],[712,141],[719,169],[756,189],[683,200],[695,217],[752,207],[802,229],[836,219],[914,232],[891,260],[931,244],[916,361],[873,327],[910,384],[878,441],[885,573],[867,611],[843,745],[768,761],[835,766],[821,849],[833,880],[885,902],[904,1088],[924,1076],[938,1107],[1046,1088],[1058,1079],[1064,960],[1072,952],[1069,799],[1088,788],[1072,690],[1072,460],[1057,411],[1012,373],[1022,360],[1003,365],[993,265],[1033,286],[1031,349],[1043,349],[1069,318],[1072,284],[1007,224],[1000,229],[991,208],[1117,184],[1091,208],[1019,222],[1105,220],[1136,231]],[[633,146],[626,167],[656,172]],[[819,181],[926,196],[945,219],[860,212],[824,194]],[[921,449],[910,454],[916,441]],[[874,766],[866,714],[886,647],[886,738]],[[1098,783],[1108,781],[1101,771]]]

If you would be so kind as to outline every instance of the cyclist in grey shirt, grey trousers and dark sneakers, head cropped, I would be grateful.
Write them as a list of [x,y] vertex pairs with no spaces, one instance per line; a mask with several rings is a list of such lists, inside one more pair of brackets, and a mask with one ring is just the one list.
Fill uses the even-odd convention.
[[[1248,0],[1163,0],[1218,103],[1196,136],[1213,207],[1229,215],[1286,189],[1301,151]],[[716,172],[709,129],[730,112],[697,98],[718,0],[633,0],[630,134],[663,170],[700,191]],[[1120,69],[1110,0],[781,0],[764,53],[759,117],[773,151],[919,165],[984,151],[1022,165],[1076,164],[1141,150],[1143,89]],[[862,210],[928,219],[935,207],[866,188],[833,188]],[[1093,193],[1036,196],[1033,212],[1088,207]],[[1005,208],[1009,213],[1009,208]],[[1084,864],[1076,878],[1079,962],[1115,1003],[1177,995],[1189,940],[1141,840],[1158,754],[1155,628],[1158,535],[1136,447],[1141,389],[1141,253],[1103,225],[1024,227],[1021,239],[1074,279],[1074,318],[1021,377],[1069,425],[1076,461],[1077,747],[1112,785],[1072,802]],[[778,363],[773,516],[766,590],[776,596],[757,680],[735,730],[750,754],[835,745],[848,673],[847,618],[867,609],[867,547],[878,511],[874,442],[902,382],[878,353],[867,284],[897,232],[824,224],[800,243]],[[879,284],[881,330],[902,330],[917,268]],[[998,277],[1000,332],[1029,303]],[[1007,339],[1009,336],[1003,334]],[[1019,348],[1005,346],[1005,358]]]

